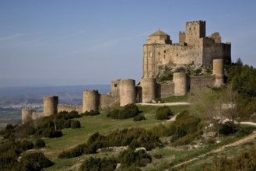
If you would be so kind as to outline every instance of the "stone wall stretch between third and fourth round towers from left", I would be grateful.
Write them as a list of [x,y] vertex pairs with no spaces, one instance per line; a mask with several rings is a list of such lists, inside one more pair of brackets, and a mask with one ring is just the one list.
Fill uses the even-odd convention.
[[100,95],[100,109],[106,109],[111,106],[119,106],[120,97],[108,94]]

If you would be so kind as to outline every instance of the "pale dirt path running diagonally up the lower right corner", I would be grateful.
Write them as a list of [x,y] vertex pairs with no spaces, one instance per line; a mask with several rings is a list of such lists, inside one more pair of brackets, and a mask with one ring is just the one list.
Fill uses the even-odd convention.
[[[256,123],[253,123],[253,122],[241,122],[240,124],[250,124],[250,125],[256,126]],[[181,162],[181,163],[179,163],[179,164],[173,166],[173,168],[176,168],[176,167],[179,167],[179,166],[183,166],[183,165],[185,165],[185,164],[188,164],[189,162],[193,162],[193,161],[195,161],[195,160],[197,160],[197,159],[200,159],[200,158],[204,157],[205,155],[209,155],[209,154],[216,153],[216,152],[222,152],[222,151],[223,151],[225,148],[227,148],[227,147],[242,145],[242,144],[244,144],[244,143],[247,143],[247,142],[249,142],[249,141],[254,140],[254,138],[256,138],[256,131],[253,131],[252,134],[248,135],[247,137],[242,138],[242,139],[240,139],[240,140],[238,140],[238,141],[235,141],[235,142],[233,142],[233,143],[230,143],[229,145],[223,145],[222,147],[217,148],[217,149],[214,149],[214,150],[212,150],[212,151],[210,151],[210,152],[206,152],[206,153],[203,154],[203,155],[199,155],[198,157],[195,157],[195,158],[190,159],[190,160],[188,160],[188,161]]]

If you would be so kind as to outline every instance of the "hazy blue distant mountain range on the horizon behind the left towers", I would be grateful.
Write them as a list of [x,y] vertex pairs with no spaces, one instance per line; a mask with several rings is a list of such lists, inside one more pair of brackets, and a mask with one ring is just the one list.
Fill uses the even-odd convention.
[[84,89],[98,89],[104,94],[110,92],[110,85],[4,87],[0,88],[0,107],[19,103],[43,103],[44,96],[58,96],[59,103],[82,104]]

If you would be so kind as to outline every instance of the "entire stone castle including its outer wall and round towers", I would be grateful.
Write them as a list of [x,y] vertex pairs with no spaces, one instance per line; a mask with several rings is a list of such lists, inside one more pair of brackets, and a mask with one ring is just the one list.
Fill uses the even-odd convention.
[[[45,96],[44,113],[22,110],[23,124],[61,111],[84,113],[129,103],[152,103],[156,98],[184,96],[197,87],[223,86],[224,64],[231,61],[231,44],[221,43],[219,33],[205,37],[205,21],[186,23],[186,32],[180,32],[179,37],[179,43],[172,44],[170,36],[161,30],[149,36],[143,46],[143,76],[137,85],[133,79],[116,79],[111,82],[111,92],[107,94],[84,90],[82,106],[61,105],[58,104],[58,96]],[[176,72],[173,82],[156,82],[160,66],[179,67],[190,64],[212,65],[212,75],[191,76],[186,72]]]

